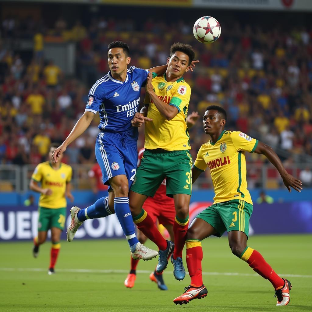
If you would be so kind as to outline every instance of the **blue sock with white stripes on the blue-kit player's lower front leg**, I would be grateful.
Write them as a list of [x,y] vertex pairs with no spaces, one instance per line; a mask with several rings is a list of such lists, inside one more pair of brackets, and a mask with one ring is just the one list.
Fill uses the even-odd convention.
[[129,243],[131,252],[135,251],[135,246],[139,242],[135,235],[134,223],[132,220],[129,198],[128,197],[115,197],[114,208],[119,223],[124,231],[124,235]]

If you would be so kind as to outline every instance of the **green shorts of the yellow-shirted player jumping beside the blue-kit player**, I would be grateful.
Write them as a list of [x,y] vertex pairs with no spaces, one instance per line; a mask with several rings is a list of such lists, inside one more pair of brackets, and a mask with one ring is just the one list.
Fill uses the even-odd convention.
[[164,178],[167,196],[192,194],[192,156],[188,150],[146,149],[131,191],[153,197]]

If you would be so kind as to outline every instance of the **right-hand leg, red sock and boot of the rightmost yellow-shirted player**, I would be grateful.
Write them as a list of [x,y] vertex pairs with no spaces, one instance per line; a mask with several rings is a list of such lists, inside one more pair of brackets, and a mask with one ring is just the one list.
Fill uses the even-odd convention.
[[258,251],[247,246],[247,236],[244,232],[228,232],[228,238],[232,253],[241,260],[246,261],[256,273],[271,282],[275,288],[277,305],[288,305],[290,301],[290,281],[278,276]]

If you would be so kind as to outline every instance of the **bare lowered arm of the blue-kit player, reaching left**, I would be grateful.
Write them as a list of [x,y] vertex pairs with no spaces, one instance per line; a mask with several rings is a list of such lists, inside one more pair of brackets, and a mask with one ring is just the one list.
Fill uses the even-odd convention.
[[71,133],[65,141],[53,152],[52,162],[57,163],[57,158],[61,156],[66,151],[66,148],[71,142],[75,141],[85,130],[90,126],[92,119],[95,114],[89,111],[85,111],[84,114],[78,119]]

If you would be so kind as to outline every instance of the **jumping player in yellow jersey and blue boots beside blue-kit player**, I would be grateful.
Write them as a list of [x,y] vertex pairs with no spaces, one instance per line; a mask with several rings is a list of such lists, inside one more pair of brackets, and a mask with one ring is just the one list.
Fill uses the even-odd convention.
[[[145,236],[159,248],[156,271],[162,272],[171,255],[173,274],[183,280],[185,270],[182,250],[188,229],[188,209],[192,192],[192,157],[186,117],[191,88],[183,79],[194,59],[193,48],[175,43],[170,48],[168,68],[162,76],[149,73],[146,93],[149,102],[133,119],[133,126],[140,126],[144,118],[145,151],[129,193],[129,206],[134,223]],[[152,80],[152,77],[154,79]],[[166,241],[158,231],[151,216],[142,208],[144,201],[153,197],[167,177],[167,196],[173,197],[176,216],[173,223],[174,244]]]

